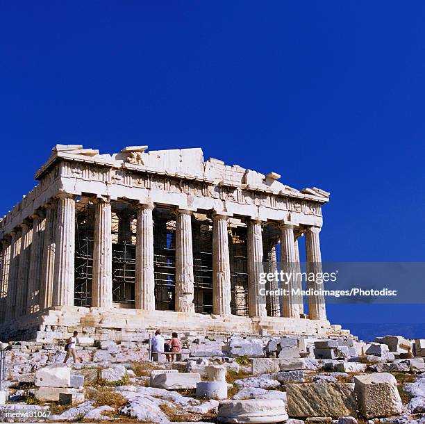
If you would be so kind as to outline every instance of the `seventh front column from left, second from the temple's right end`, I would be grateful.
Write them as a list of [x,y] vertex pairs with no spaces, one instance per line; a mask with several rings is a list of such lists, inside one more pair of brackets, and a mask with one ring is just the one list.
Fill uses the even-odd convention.
[[296,263],[294,226],[281,225],[281,271],[288,276],[282,284],[285,291],[288,291],[282,302],[283,316],[286,318],[299,318],[299,296],[294,293],[298,286]]

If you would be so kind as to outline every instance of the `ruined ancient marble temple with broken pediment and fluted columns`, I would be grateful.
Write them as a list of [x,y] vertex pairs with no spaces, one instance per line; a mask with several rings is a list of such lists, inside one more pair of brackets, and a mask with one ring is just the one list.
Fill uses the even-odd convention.
[[319,295],[259,294],[260,272],[299,266],[301,236],[321,263],[329,194],[280,178],[204,161],[201,149],[56,145],[0,220],[1,337],[344,332]]

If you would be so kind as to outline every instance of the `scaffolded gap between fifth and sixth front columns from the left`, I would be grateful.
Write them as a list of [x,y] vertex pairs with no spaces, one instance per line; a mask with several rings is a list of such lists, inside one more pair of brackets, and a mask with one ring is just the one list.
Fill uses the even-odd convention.
[[231,268],[231,312],[248,316],[247,227],[232,226],[228,233]]

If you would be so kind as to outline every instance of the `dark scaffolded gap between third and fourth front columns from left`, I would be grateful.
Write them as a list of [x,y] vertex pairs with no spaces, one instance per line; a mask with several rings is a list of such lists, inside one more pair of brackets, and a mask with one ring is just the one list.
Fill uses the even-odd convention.
[[153,211],[155,309],[174,311],[176,295],[176,219],[171,209]]

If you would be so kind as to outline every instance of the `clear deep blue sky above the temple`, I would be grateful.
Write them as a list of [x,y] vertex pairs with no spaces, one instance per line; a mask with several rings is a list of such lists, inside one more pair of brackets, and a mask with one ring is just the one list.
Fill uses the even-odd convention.
[[57,142],[202,147],[330,191],[324,260],[424,261],[424,22],[422,1],[3,1],[0,211]]

